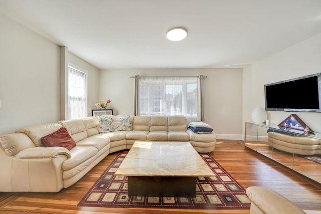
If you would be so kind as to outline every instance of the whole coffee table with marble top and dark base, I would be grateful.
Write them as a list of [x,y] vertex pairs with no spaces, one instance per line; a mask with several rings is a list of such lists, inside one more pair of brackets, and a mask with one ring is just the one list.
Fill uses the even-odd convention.
[[136,141],[115,172],[129,196],[196,196],[196,178],[215,176],[190,142]]

